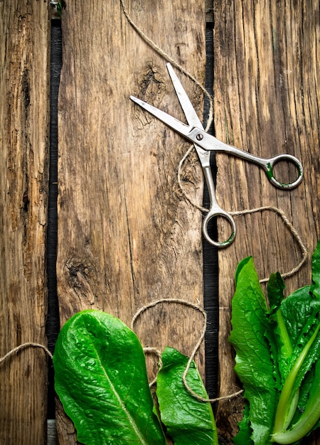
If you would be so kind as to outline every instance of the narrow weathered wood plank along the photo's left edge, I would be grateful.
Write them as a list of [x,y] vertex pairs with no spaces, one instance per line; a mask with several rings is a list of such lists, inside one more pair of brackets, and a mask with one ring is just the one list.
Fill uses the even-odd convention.
[[[50,5],[0,1],[0,355],[46,344]],[[0,366],[0,443],[46,443],[47,360]]]

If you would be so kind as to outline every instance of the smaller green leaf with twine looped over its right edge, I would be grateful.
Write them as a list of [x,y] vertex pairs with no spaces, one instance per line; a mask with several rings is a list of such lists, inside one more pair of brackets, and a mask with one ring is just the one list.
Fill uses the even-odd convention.
[[[193,397],[183,385],[188,358],[174,348],[165,348],[156,381],[161,421],[175,445],[218,445],[218,434],[210,403]],[[197,395],[208,395],[194,362],[186,382]]]

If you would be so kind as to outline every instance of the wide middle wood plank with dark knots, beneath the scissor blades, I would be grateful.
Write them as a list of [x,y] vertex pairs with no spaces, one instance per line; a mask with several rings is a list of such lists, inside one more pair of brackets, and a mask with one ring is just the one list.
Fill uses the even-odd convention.
[[[204,81],[205,5],[196,0],[125,2],[139,28]],[[201,114],[202,94],[182,78]],[[188,144],[138,109],[129,95],[181,117],[165,60],[137,34],[119,0],[72,1],[63,11],[59,92],[58,296],[60,320],[95,308],[130,323],[151,301],[201,304],[201,215],[177,185]],[[201,204],[196,156],[183,183]],[[190,354],[203,320],[160,304],[137,320],[144,345]],[[203,351],[198,363],[203,371]],[[58,414],[60,442],[72,443]],[[70,431],[69,431],[70,432]]]

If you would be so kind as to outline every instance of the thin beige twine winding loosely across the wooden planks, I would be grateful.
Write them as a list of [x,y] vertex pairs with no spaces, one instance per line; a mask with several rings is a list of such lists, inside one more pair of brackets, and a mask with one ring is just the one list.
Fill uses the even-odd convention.
[[[127,18],[127,21],[129,22],[129,24],[132,26],[132,28],[134,28],[134,30],[139,34],[140,37],[142,37],[142,39],[159,55],[161,55],[162,58],[164,58],[165,60],[167,60],[169,63],[171,63],[171,65],[173,65],[175,68],[177,68],[178,70],[181,71],[181,73],[183,73],[184,75],[186,75],[186,77],[188,77],[189,79],[191,79],[202,91],[203,94],[206,95],[206,97],[208,98],[208,102],[209,102],[209,112],[208,112],[208,121],[206,124],[206,131],[208,131],[208,129],[210,128],[210,125],[213,122],[213,99],[210,96],[209,92],[206,90],[206,88],[201,84],[201,82],[198,82],[198,80],[193,77],[193,75],[191,75],[191,73],[188,73],[188,71],[186,71],[179,63],[176,62],[176,60],[174,60],[174,58],[171,58],[171,56],[166,53],[164,50],[162,50],[158,45],[156,45],[156,43],[154,43],[154,41],[151,41],[151,39],[146,36],[146,34],[142,31],[142,29],[139,28],[139,26],[136,25],[136,23],[134,23],[134,21],[132,20],[131,16],[129,15],[127,9],[124,6],[124,2],[123,0],[119,0],[120,4],[122,6],[122,11],[124,16]],[[183,186],[182,186],[182,182],[181,182],[181,171],[183,168],[183,163],[186,161],[186,159],[188,159],[188,156],[191,154],[191,152],[193,151],[194,146],[191,145],[189,147],[189,149],[186,151],[186,154],[183,155],[181,161],[178,164],[178,173],[177,173],[177,181],[178,181],[178,186],[181,189],[181,192],[183,193],[184,197],[188,200],[189,203],[191,203],[191,205],[193,205],[195,208],[198,208],[198,210],[201,210],[202,212],[208,212],[208,209],[201,207],[200,205],[198,205],[197,203],[193,202],[193,200],[191,199],[191,197],[188,195],[188,193],[184,190]],[[284,274],[282,274],[283,278],[287,278],[287,277],[292,277],[292,275],[296,274],[299,269],[301,269],[302,265],[304,264],[304,262],[306,262],[307,256],[308,256],[308,250],[306,249],[306,246],[304,245],[304,242],[302,242],[302,238],[300,237],[299,233],[297,232],[297,230],[294,228],[294,226],[292,225],[292,223],[290,223],[290,221],[288,220],[287,216],[285,215],[284,211],[276,208],[272,205],[266,205],[263,207],[259,207],[259,208],[253,208],[253,209],[245,209],[245,210],[236,210],[233,212],[229,212],[230,215],[236,216],[236,215],[247,215],[249,213],[257,213],[257,212],[262,212],[265,210],[271,210],[275,213],[277,213],[277,215],[280,216],[280,218],[282,218],[282,221],[284,223],[284,225],[287,226],[287,228],[289,229],[289,231],[292,233],[292,235],[294,236],[294,238],[297,240],[297,243],[299,245],[299,247],[302,250],[302,259],[299,262],[299,264],[297,264],[296,267],[294,267],[292,270],[290,270],[289,272],[285,272]],[[260,279],[260,283],[264,283],[267,282],[267,278],[263,278]],[[201,343],[203,342],[203,338],[206,335],[206,325],[207,325],[207,315],[206,315],[206,311],[204,311],[200,306],[193,304],[189,301],[185,301],[185,300],[181,300],[181,299],[160,299],[160,300],[156,300],[156,301],[152,301],[151,303],[147,304],[146,306],[142,306],[142,308],[140,308],[133,316],[132,318],[132,323],[131,323],[131,328],[132,330],[134,329],[134,324],[137,321],[137,318],[139,318],[139,316],[141,316],[141,314],[144,311],[147,311],[148,309],[151,309],[152,307],[158,305],[158,304],[181,304],[183,306],[188,306],[191,307],[192,309],[195,309],[196,311],[199,311],[202,315],[203,315],[203,328],[201,331],[201,336],[198,339],[198,342],[196,343],[195,347],[193,348],[193,351],[190,355],[190,358],[188,358],[188,363],[186,365],[186,369],[183,372],[183,376],[182,376],[182,380],[183,380],[183,385],[186,387],[186,389],[188,390],[188,392],[191,393],[191,395],[193,395],[193,397],[195,397],[197,400],[200,400],[201,402],[217,402],[218,400],[225,400],[225,399],[231,399],[233,397],[237,397],[238,395],[240,395],[243,390],[237,391],[237,392],[233,392],[230,395],[225,395],[222,397],[216,397],[214,399],[206,399],[204,397],[201,397],[200,395],[196,394],[196,392],[194,392],[192,390],[192,388],[188,385],[188,382],[186,381],[186,377],[188,375],[188,370],[190,369],[191,363],[193,361],[193,359],[195,358],[196,353],[198,352],[198,349],[201,346]],[[6,353],[6,355],[4,355],[2,358],[0,358],[0,365],[2,363],[4,363],[5,360],[9,359],[11,356],[16,355],[19,351],[26,349],[26,348],[41,348],[45,351],[45,353],[52,359],[53,355],[50,353],[50,350],[48,350],[48,348],[46,348],[45,345],[41,345],[40,343],[33,343],[33,342],[27,342],[27,343],[23,343],[21,345],[16,346],[16,348],[13,348],[11,350],[9,350],[8,353]],[[159,358],[159,368],[161,368],[161,351],[157,348],[144,348],[144,353],[154,353],[157,355],[157,357]],[[152,380],[152,382],[150,382],[150,386],[154,385],[154,383],[156,382],[156,377],[154,378],[154,380]]]

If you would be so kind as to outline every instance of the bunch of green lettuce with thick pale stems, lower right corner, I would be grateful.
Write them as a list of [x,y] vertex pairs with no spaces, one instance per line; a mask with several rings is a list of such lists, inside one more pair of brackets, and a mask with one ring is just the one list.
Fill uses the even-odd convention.
[[230,342],[245,410],[235,445],[299,444],[320,426],[320,242],[312,283],[284,299],[272,274],[265,299],[252,257],[235,274]]

